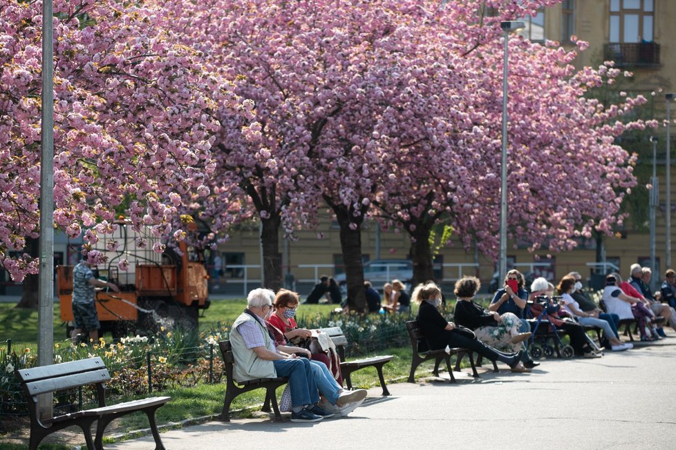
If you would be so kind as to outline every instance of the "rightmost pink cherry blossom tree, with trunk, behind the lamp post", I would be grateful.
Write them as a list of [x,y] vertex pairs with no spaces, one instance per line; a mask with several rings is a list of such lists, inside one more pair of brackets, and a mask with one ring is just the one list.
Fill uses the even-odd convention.
[[[579,43],[585,48],[585,43]],[[591,89],[614,84],[621,74],[605,63],[576,72],[575,51],[512,39],[509,80],[509,237],[552,251],[575,246],[575,237],[610,233],[621,223],[619,205],[635,185],[632,157],[614,139],[644,128],[621,121],[646,101],[625,94],[619,104],[599,104]],[[440,219],[469,248],[496,256],[500,226],[501,43],[485,43],[466,55],[468,82],[449,92],[466,120],[453,121],[444,146],[400,161],[400,190],[376,199],[384,224],[411,236],[417,282],[433,275],[430,231]],[[469,90],[467,89],[469,88]],[[648,126],[655,126],[648,122]],[[420,139],[429,148],[429,139]]]

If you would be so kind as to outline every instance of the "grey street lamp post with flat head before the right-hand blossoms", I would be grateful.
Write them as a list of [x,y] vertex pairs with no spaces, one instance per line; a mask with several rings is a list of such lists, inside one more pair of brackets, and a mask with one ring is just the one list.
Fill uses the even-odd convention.
[[503,149],[500,162],[500,266],[498,280],[507,273],[507,67],[509,61],[509,32],[520,30],[525,23],[518,21],[500,22],[503,29],[505,55],[503,59]]

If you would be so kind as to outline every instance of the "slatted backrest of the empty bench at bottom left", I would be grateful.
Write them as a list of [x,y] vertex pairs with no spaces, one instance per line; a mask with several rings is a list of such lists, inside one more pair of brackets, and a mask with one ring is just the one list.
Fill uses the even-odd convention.
[[86,360],[62,362],[50,366],[19,369],[17,379],[24,386],[27,395],[61,391],[86,384],[103,383],[111,379],[108,369],[100,357]]

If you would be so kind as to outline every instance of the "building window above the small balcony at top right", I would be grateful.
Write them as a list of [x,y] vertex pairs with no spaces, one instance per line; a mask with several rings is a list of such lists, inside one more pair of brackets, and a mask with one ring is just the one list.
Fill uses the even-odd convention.
[[[565,2],[564,2],[565,3]],[[652,42],[653,0],[610,0],[610,43]]]

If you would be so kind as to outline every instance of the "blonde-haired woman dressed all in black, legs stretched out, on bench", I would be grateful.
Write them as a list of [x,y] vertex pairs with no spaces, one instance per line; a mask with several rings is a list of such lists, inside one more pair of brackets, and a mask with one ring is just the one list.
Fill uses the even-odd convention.
[[441,289],[434,283],[420,284],[413,291],[413,300],[420,304],[417,322],[427,338],[431,350],[445,349],[446,346],[462,347],[474,351],[491,361],[500,361],[511,369],[519,365],[522,352],[503,353],[480,342],[468,329],[458,329],[448,322],[438,310],[441,305]]

